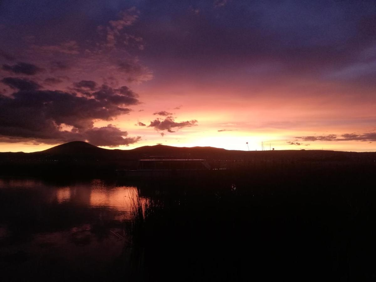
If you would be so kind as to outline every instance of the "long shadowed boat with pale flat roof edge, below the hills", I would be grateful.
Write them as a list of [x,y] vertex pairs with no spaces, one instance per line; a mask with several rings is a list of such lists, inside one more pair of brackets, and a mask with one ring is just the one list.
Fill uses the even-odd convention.
[[117,170],[122,177],[197,177],[208,175],[210,165],[204,159],[141,159],[136,170]]

